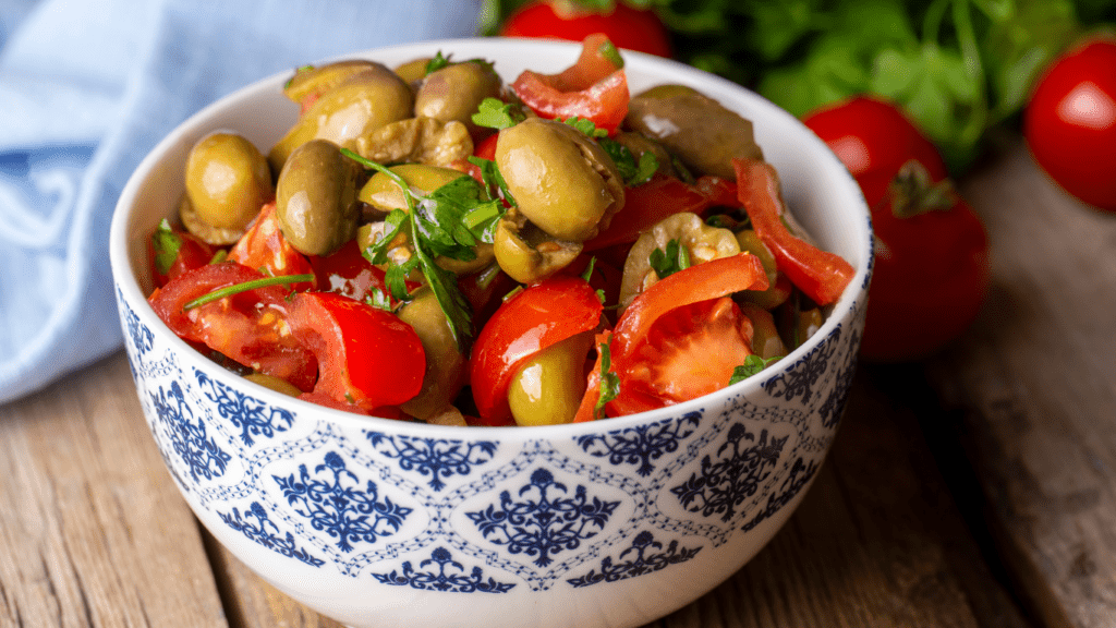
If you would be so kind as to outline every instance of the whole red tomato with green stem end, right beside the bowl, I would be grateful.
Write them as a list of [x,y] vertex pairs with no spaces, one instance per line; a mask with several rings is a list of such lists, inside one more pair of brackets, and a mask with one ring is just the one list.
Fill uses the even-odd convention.
[[925,179],[915,166],[904,168],[888,197],[872,208],[876,258],[860,344],[866,360],[935,353],[972,323],[988,292],[984,225],[956,194],[920,206]]

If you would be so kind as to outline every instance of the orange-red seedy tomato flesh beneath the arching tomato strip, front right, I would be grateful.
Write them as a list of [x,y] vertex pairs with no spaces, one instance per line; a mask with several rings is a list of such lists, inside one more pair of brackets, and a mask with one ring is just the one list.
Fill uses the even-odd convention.
[[677,403],[720,390],[752,353],[750,336],[751,322],[731,297],[676,307],[625,356],[622,396],[628,388]]

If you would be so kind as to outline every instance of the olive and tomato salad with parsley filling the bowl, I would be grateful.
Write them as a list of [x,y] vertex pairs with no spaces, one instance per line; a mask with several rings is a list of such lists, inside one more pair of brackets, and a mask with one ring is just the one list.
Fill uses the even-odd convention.
[[795,222],[752,124],[629,95],[604,36],[504,84],[440,51],[298,69],[267,154],[190,151],[155,313],[258,383],[360,415],[552,425],[694,399],[801,344],[853,267]]

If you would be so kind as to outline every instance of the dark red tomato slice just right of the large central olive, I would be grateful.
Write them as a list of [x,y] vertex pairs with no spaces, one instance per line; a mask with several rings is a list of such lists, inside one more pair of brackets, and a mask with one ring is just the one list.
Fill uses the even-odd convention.
[[624,191],[624,207],[608,227],[585,242],[585,250],[634,242],[664,218],[689,211],[703,216],[711,207],[737,207],[737,184],[720,177],[702,177],[693,185],[673,177],[655,177]]

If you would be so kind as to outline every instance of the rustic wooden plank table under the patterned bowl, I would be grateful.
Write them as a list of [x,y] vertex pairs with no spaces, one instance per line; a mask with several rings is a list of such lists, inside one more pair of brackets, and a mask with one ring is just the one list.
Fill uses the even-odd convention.
[[[863,365],[801,507],[663,628],[1116,626],[1116,216],[1022,145],[962,185],[992,241],[980,320]],[[115,354],[0,407],[0,626],[337,626],[191,515]]]

